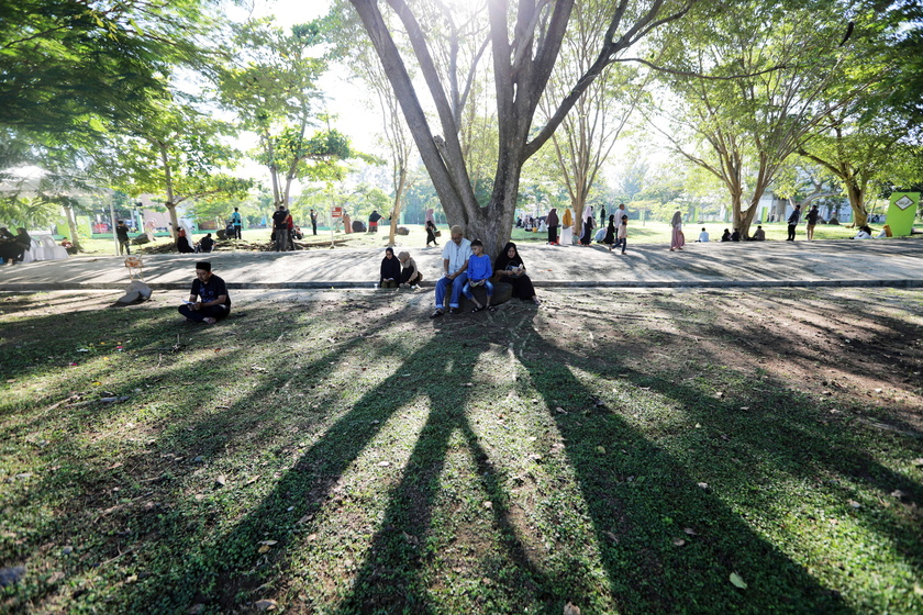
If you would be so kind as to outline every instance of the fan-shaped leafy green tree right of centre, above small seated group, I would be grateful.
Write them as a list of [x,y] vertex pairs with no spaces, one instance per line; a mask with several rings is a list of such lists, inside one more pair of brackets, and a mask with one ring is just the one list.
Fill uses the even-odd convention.
[[877,78],[844,81],[857,59],[841,46],[844,32],[836,3],[742,2],[687,33],[660,72],[676,92],[661,102],[675,123],[663,134],[724,183],[745,237],[786,159]]

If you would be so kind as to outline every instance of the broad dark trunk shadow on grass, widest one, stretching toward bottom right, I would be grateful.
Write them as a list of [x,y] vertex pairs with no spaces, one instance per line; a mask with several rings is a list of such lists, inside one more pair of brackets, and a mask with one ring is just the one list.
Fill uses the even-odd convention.
[[[592,358],[564,353],[537,329],[532,333],[522,365],[546,405],[567,399],[567,414],[554,418],[603,545],[620,612],[849,611],[836,592],[756,534],[711,487],[699,487],[701,479],[690,476],[686,463],[626,421],[623,414],[634,409],[612,412],[599,400],[599,389],[618,381],[616,370],[631,385],[657,382],[619,365],[600,373]],[[599,389],[588,388],[575,369],[597,374]],[[664,394],[670,393],[665,387]],[[638,410],[645,412],[643,405]],[[687,534],[687,527],[696,534]],[[685,544],[677,546],[678,540]],[[745,578],[746,592],[731,585],[732,572]]]

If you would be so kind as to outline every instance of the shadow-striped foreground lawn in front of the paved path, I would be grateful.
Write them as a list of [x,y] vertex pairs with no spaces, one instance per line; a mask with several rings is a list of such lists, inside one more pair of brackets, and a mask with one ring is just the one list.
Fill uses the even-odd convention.
[[919,292],[112,299],[0,294],[0,612],[923,611]]

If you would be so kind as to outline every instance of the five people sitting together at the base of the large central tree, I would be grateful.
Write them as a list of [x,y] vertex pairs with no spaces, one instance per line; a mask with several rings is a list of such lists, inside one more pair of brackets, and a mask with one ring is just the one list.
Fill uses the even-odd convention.
[[[474,302],[472,312],[481,310],[493,311],[493,284],[507,282],[511,284],[512,295],[524,301],[540,303],[535,297],[532,280],[525,273],[525,265],[516,250],[516,245],[509,243],[503,247],[500,256],[491,262],[483,253],[480,239],[469,242],[463,236],[460,226],[451,230],[452,241],[443,248],[443,277],[436,282],[435,309],[430,317],[435,318],[445,313],[445,302],[448,299],[448,313],[456,314],[460,309],[462,295]],[[419,284],[423,275],[410,254],[402,251],[394,256],[392,248],[385,249],[381,259],[379,288],[408,288]],[[474,290],[483,287],[487,298],[483,304],[475,297]]]

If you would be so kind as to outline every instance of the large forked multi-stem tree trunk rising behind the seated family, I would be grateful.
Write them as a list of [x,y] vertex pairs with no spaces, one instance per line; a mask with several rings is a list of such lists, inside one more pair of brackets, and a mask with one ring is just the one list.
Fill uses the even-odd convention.
[[[349,0],[394,89],[449,224],[460,225],[469,238],[480,238],[485,243],[485,251],[491,257],[499,254],[512,233],[523,164],[554,134],[587,87],[607,66],[620,59],[622,51],[657,26],[680,19],[693,1],[681,3],[672,14],[661,15],[665,2],[654,0],[648,9],[641,9],[637,21],[623,23],[630,1],[619,0],[608,19],[600,23],[600,30],[605,33],[600,37],[601,48],[596,62],[571,86],[545,125],[537,131],[534,130],[533,119],[557,60],[575,0],[554,3],[522,0],[515,11],[511,10],[509,1],[487,2],[499,143],[493,190],[490,200],[482,205],[475,198],[459,142],[462,114],[452,102],[459,99],[457,80],[445,79],[440,74],[427,30],[420,24],[405,0],[387,0],[413,48],[420,76],[434,104],[441,128],[437,132],[430,126],[401,51],[381,14],[385,2]],[[515,23],[510,23],[511,18]]]

